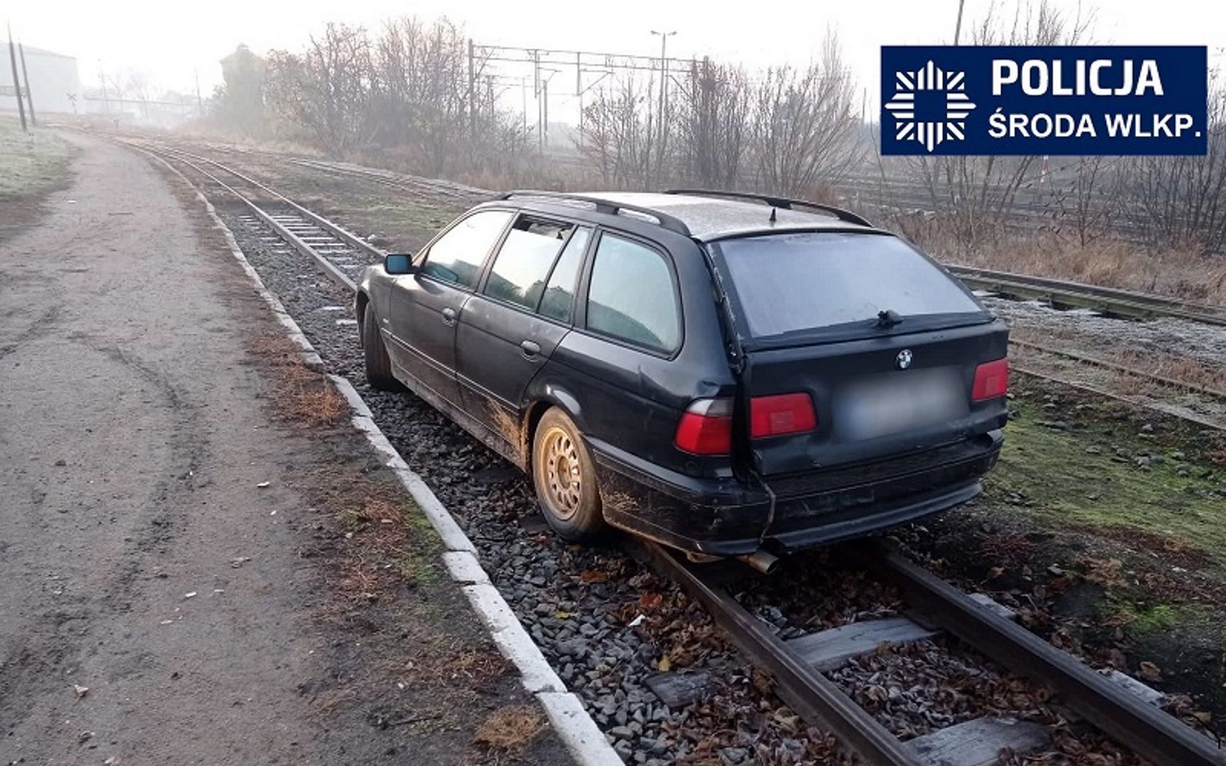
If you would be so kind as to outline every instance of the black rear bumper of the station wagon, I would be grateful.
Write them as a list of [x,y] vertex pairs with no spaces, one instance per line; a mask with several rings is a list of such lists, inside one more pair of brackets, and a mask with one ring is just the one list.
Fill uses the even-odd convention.
[[[770,495],[734,478],[694,478],[595,442],[606,520],[673,548],[797,550],[861,537],[948,510],[981,490],[1000,453],[999,430],[902,458],[772,478]],[[769,525],[769,528],[767,528]]]

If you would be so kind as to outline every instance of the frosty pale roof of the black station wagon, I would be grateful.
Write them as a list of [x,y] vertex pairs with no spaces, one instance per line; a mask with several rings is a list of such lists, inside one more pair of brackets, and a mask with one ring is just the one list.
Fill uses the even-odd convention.
[[[508,197],[539,197],[547,203],[574,208],[576,205],[596,205],[601,202],[618,208],[623,216],[641,218],[658,213],[658,221],[666,228],[684,229],[683,233],[701,241],[711,241],[727,237],[747,234],[766,234],[774,232],[798,230],[858,230],[878,232],[864,226],[863,219],[846,211],[809,212],[783,205],[791,200],[779,200],[764,196],[761,199],[729,199],[714,196],[721,192],[706,194],[662,194],[652,191],[588,191],[588,192],[535,192],[516,191]],[[767,202],[774,201],[779,205]],[[801,205],[799,202],[794,202]],[[840,217],[842,214],[842,217]],[[678,226],[680,224],[680,226]]]

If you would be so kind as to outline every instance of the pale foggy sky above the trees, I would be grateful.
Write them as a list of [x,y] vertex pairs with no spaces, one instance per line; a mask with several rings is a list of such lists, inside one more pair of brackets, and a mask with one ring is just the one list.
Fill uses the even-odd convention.
[[[966,0],[962,42],[988,6],[989,0]],[[1056,0],[1056,6],[1072,16],[1079,4]],[[396,16],[447,15],[478,43],[602,53],[660,55],[660,38],[650,29],[677,31],[669,56],[711,55],[749,66],[804,65],[831,26],[870,104],[880,45],[949,43],[956,12],[958,0],[0,0],[0,20],[11,17],[26,45],[75,55],[85,85],[97,85],[99,67],[112,76],[139,70],[158,87],[191,93],[199,74],[207,96],[221,81],[218,59],[238,43],[256,53],[297,50],[329,21],[378,28]],[[1221,0],[1103,0],[1095,18],[1094,42],[1201,44],[1210,47],[1211,64],[1224,60]],[[573,85],[554,97],[550,86],[550,110],[559,116],[573,98],[568,88]]]

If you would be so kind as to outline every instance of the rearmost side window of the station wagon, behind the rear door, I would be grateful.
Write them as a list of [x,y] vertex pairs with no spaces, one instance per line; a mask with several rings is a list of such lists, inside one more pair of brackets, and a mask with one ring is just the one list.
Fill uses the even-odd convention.
[[680,342],[672,271],[634,240],[601,234],[587,288],[587,328],[662,352]]

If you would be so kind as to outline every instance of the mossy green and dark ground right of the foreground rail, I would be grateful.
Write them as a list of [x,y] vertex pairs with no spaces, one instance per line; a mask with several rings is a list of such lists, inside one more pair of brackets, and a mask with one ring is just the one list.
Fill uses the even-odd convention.
[[1226,733],[1222,434],[1025,377],[1010,411],[983,494],[896,537],[1053,645]]

